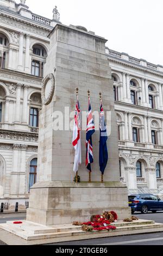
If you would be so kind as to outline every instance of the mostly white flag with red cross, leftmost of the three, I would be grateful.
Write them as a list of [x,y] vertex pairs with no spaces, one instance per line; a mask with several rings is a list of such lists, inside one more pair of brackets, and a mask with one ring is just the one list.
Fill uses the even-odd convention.
[[73,128],[73,140],[72,145],[76,150],[76,154],[74,157],[74,173],[77,173],[79,164],[82,163],[82,150],[81,150],[81,137],[80,137],[80,106],[79,100],[77,96],[77,103],[76,103],[76,112],[74,115],[74,128]]

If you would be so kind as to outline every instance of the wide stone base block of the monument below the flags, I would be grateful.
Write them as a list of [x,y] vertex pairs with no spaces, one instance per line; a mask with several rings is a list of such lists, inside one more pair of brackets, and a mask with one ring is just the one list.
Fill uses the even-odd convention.
[[115,211],[129,218],[127,187],[121,182],[37,182],[30,191],[27,221],[42,225],[90,221],[91,215]]

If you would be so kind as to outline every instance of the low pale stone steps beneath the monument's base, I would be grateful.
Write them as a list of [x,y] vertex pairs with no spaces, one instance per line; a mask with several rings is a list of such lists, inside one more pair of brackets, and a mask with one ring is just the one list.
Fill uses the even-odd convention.
[[[27,222],[28,223],[28,222]],[[92,231],[92,232],[85,232],[82,230],[72,230],[71,228],[68,231],[60,231],[53,233],[40,233],[34,234],[33,230],[22,230],[20,227],[13,227],[13,225],[8,224],[0,224],[0,228],[15,234],[17,236],[22,237],[26,240],[43,240],[45,239],[45,243],[47,239],[54,239],[54,242],[61,242],[61,241],[73,241],[73,240],[84,240],[84,239],[93,239],[97,237],[109,237],[109,236],[120,236],[120,235],[129,235],[129,234],[141,234],[141,233],[152,233],[152,232],[160,232],[163,231],[163,224],[155,223],[155,224],[141,224],[133,223],[132,225],[122,225],[118,226],[116,230],[102,230],[102,231]],[[30,224],[30,223],[28,223]],[[41,226],[41,225],[39,225]],[[70,225],[68,225],[70,226]],[[67,229],[68,229],[67,226]],[[74,226],[73,226],[74,227]],[[46,227],[47,228],[47,227]],[[80,227],[81,228],[81,227]],[[39,229],[41,230],[42,227]],[[46,229],[47,231],[48,229]],[[55,229],[53,229],[55,230]]]

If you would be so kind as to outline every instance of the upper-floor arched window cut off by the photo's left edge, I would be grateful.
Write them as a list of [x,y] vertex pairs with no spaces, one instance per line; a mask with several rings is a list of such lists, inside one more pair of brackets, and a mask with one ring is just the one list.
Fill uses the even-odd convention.
[[4,69],[6,66],[6,57],[8,52],[9,41],[7,37],[0,33],[0,68]]

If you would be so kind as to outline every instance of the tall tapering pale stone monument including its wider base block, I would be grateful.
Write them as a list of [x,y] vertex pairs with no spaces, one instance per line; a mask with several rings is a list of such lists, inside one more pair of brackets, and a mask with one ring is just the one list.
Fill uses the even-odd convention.
[[[56,25],[45,65],[42,88],[42,109],[39,128],[39,167],[37,182],[30,190],[27,221],[42,225],[89,221],[93,214],[113,210],[119,219],[130,217],[127,187],[120,182],[117,145],[117,122],[111,69],[105,55],[106,40],[74,26]],[[91,92],[92,111],[99,112],[99,92],[103,107],[111,112],[111,134],[108,139],[109,161],[104,183],[99,172],[99,131],[93,135],[95,162],[92,182],[88,182],[85,168],[85,131],[82,131],[82,165],[80,183],[73,182],[74,151],[72,131],[53,130],[53,113],[65,107],[74,111],[76,88],[82,111],[87,111],[87,90]]]

